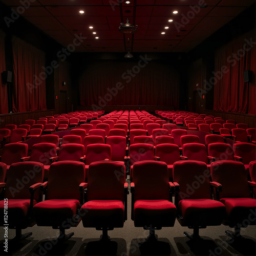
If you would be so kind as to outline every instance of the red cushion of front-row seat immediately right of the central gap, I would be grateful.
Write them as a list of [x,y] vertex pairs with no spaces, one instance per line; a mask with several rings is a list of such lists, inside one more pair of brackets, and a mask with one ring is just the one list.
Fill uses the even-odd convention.
[[135,227],[172,227],[176,218],[176,207],[168,200],[137,200],[134,203]]

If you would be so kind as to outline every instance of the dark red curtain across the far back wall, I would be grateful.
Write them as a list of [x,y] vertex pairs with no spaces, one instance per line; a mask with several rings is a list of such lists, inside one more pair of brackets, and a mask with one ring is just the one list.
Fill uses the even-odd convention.
[[81,105],[166,105],[179,108],[179,72],[161,61],[99,60],[79,79]]

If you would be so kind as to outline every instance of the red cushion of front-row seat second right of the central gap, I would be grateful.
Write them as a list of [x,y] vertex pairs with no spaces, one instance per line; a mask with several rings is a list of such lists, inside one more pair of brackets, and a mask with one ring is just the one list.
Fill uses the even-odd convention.
[[182,226],[221,225],[225,217],[225,205],[211,199],[184,199],[179,202]]

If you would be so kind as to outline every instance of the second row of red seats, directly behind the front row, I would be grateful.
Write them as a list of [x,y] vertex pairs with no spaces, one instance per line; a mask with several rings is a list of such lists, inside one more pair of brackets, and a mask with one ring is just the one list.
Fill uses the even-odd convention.
[[[47,135],[46,135],[47,136]],[[48,135],[49,136],[49,135]],[[211,135],[208,135],[210,138]],[[57,137],[57,136],[56,136]],[[87,136],[86,138],[89,138]],[[189,136],[189,139],[195,139],[197,136]],[[207,142],[212,142],[210,139]],[[172,137],[170,137],[172,138]],[[45,139],[42,136],[42,139]],[[103,141],[103,138],[101,138]],[[215,138],[218,141],[218,138]],[[250,143],[230,144],[214,142],[208,144],[208,151],[204,144],[188,142],[182,145],[182,155],[177,144],[165,143],[158,144],[155,148],[148,143],[135,143],[126,146],[126,139],[120,136],[111,136],[107,138],[106,143],[94,143],[85,147],[83,144],[64,143],[59,148],[56,144],[41,142],[32,146],[31,156],[28,157],[28,145],[25,143],[10,143],[4,146],[1,162],[9,166],[19,161],[35,161],[45,165],[45,180],[48,179],[48,170],[54,161],[82,161],[86,164],[87,170],[89,164],[95,161],[109,159],[119,161],[125,164],[127,170],[130,170],[130,179],[133,180],[133,165],[142,160],[161,160],[168,165],[169,180],[172,180],[173,164],[179,160],[197,160],[209,164],[215,160],[239,160],[246,170],[249,169],[249,163],[256,160],[256,145]]]

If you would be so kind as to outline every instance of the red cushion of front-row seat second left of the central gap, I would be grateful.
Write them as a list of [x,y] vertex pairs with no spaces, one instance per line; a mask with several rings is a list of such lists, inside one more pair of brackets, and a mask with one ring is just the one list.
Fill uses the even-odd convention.
[[33,211],[38,226],[60,226],[69,219],[75,220],[78,207],[76,199],[50,199],[37,203]]

